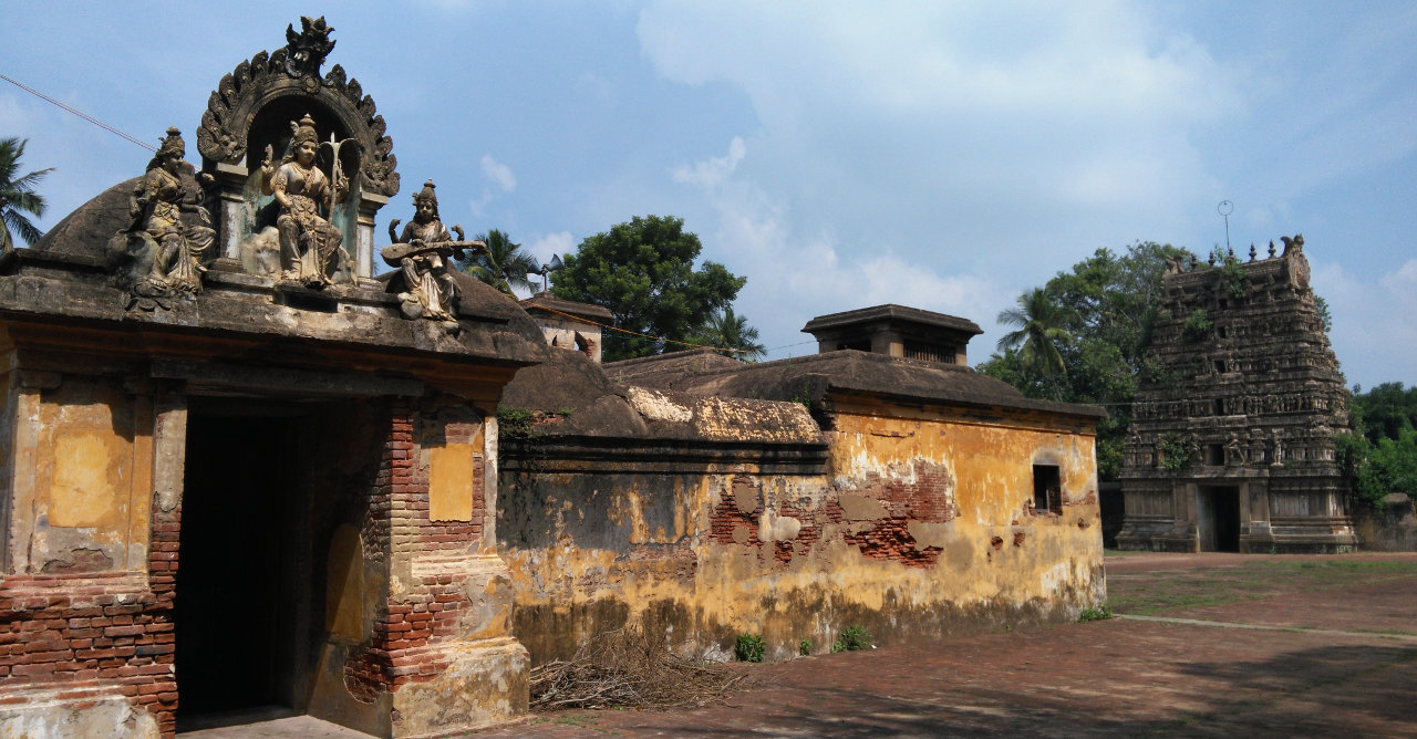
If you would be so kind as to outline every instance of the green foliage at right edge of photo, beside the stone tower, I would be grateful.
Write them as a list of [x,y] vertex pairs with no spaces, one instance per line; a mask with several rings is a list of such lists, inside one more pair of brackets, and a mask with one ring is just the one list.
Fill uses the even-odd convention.
[[1356,433],[1338,436],[1338,460],[1353,495],[1380,507],[1389,493],[1417,494],[1417,388],[1360,389],[1353,388],[1349,406]]

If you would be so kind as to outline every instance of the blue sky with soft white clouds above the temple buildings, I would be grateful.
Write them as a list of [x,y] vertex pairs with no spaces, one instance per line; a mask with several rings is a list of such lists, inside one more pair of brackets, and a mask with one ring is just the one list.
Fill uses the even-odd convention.
[[[0,74],[143,140],[324,14],[378,103],[408,219],[538,258],[672,214],[811,354],[813,316],[903,303],[986,330],[1094,249],[1302,232],[1350,384],[1417,384],[1417,4],[4,3]],[[55,167],[41,227],[149,153],[0,82],[0,136]]]

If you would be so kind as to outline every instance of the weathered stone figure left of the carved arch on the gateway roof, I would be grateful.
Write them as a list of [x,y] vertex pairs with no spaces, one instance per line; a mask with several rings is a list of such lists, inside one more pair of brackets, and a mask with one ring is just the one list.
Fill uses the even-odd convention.
[[[217,234],[200,202],[201,188],[183,184],[183,174],[190,174],[184,156],[187,146],[181,132],[167,129],[167,137],[147,163],[147,173],[137,180],[129,200],[133,218],[129,232],[153,244],[149,283],[160,290],[194,293],[201,289],[201,273],[205,272],[201,255]],[[191,184],[190,177],[187,184]],[[186,221],[183,215],[187,215]]]

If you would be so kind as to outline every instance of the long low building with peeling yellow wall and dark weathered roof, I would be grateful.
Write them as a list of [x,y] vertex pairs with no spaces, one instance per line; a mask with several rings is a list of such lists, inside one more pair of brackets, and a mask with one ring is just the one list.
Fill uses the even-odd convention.
[[503,436],[497,514],[533,664],[626,624],[684,650],[762,634],[784,658],[850,626],[896,643],[1105,599],[1097,408],[854,350],[570,381],[587,365],[523,370],[503,396],[534,418]]

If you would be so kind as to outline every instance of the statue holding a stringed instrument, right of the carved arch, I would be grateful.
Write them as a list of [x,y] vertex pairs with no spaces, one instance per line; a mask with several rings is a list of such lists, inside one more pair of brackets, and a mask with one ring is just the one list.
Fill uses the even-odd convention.
[[444,228],[438,217],[438,185],[432,180],[414,195],[414,222],[404,227],[402,235],[395,235],[398,218],[388,224],[388,238],[394,242],[380,249],[380,256],[388,266],[398,268],[391,290],[400,290],[404,316],[408,319],[429,319],[442,321],[456,331],[458,283],[448,273],[449,259],[462,259],[465,252],[485,252],[487,245],[480,241],[465,241],[461,225],[452,227],[452,234]]

